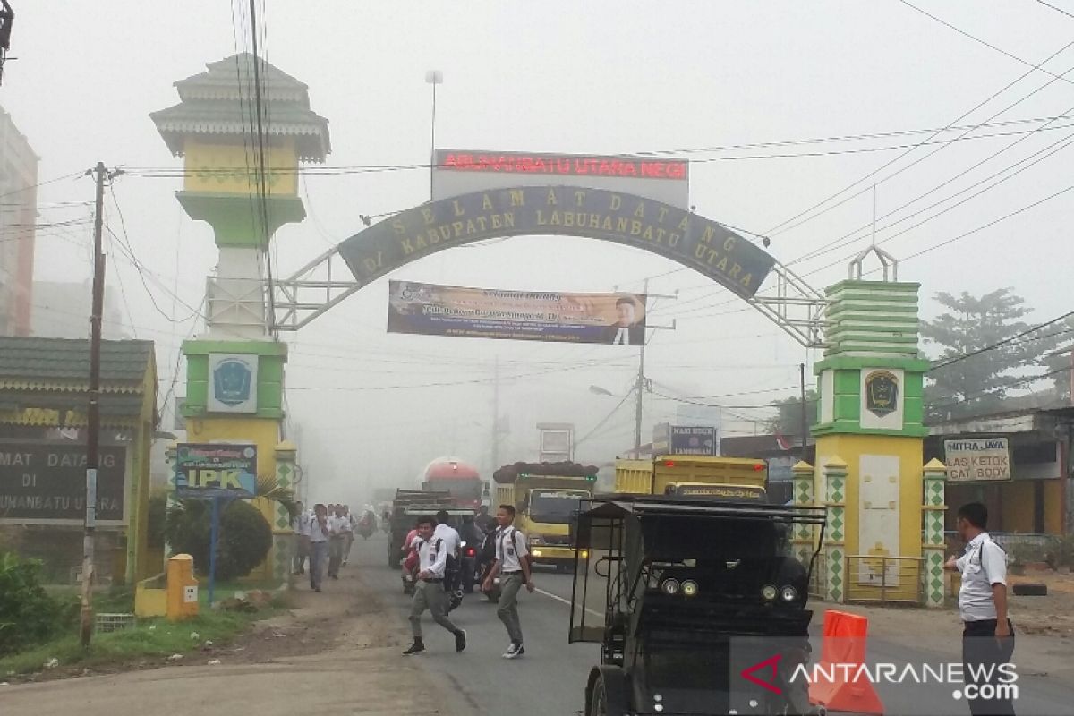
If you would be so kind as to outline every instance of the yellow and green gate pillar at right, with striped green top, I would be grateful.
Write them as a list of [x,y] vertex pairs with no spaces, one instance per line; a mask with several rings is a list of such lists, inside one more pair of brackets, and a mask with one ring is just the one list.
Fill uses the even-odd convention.
[[[923,564],[923,385],[918,283],[827,290],[814,494],[829,508],[823,591],[832,601],[917,601]],[[941,514],[942,521],[942,514]],[[884,559],[888,558],[888,559]]]

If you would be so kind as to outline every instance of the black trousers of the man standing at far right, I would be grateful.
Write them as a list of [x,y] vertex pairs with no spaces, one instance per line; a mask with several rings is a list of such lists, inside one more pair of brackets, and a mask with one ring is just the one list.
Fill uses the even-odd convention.
[[[967,685],[974,686],[976,698],[969,698],[970,713],[973,716],[1014,716],[1014,704],[1011,695],[1004,688],[1012,682],[1011,671],[1002,671],[1000,664],[1011,662],[1014,654],[1014,625],[1007,619],[1011,635],[996,639],[996,619],[979,622],[963,622],[962,629],[962,668]],[[984,695],[981,691],[984,691]],[[983,698],[989,697],[989,698]]]

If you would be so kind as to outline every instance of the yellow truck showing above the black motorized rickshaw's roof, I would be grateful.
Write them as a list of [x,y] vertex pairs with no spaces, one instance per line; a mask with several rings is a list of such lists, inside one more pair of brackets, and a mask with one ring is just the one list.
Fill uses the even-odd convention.
[[658,455],[615,462],[615,492],[767,502],[768,464],[743,457]]

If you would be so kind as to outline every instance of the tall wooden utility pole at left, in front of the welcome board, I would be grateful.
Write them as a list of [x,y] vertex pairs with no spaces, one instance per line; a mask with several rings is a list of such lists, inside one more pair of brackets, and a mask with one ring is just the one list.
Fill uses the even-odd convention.
[[101,232],[104,227],[104,180],[108,177],[103,162],[87,174],[97,181],[97,210],[93,215],[93,306],[89,316],[89,410],[86,414],[86,512],[82,545],[82,610],[79,642],[89,646],[93,633],[93,535],[97,530],[98,444],[101,437],[101,313],[104,305],[104,253]]

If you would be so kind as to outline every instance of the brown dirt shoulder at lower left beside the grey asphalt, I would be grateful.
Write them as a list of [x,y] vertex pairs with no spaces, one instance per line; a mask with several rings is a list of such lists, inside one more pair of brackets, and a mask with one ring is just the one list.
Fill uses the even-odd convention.
[[336,707],[386,716],[465,713],[464,704],[451,701],[450,684],[437,685],[441,677],[400,657],[405,630],[354,570],[320,594],[300,587],[292,597],[290,613],[259,623],[224,647],[132,664],[133,673],[3,687],[4,716],[113,716],[136,703],[184,704],[199,716],[294,716]]

